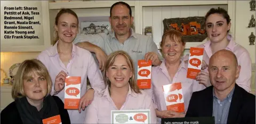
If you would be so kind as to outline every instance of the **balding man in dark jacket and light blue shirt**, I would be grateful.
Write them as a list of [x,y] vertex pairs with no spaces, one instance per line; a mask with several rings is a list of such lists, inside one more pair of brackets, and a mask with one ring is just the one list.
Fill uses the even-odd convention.
[[215,123],[255,123],[255,95],[236,84],[241,66],[229,50],[210,58],[212,86],[191,96],[186,117],[214,117]]

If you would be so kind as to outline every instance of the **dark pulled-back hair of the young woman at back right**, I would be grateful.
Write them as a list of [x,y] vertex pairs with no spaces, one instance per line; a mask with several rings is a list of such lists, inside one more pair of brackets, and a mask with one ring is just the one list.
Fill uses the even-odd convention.
[[[205,15],[205,22],[206,22],[207,18],[208,18],[211,14],[215,14],[215,13],[221,14],[221,15],[227,20],[227,23],[228,23],[228,24],[230,23],[231,19],[230,19],[229,15],[228,15],[228,12],[227,12],[224,8],[220,8],[220,7],[218,7],[218,8],[211,8],[211,9],[206,13],[206,15]],[[229,30],[228,30],[228,32],[229,32]]]

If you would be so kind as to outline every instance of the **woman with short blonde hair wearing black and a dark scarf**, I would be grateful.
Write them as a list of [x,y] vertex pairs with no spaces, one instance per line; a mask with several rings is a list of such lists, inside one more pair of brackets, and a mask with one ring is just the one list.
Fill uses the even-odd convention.
[[70,123],[63,102],[58,96],[50,95],[51,87],[50,75],[41,61],[23,61],[14,77],[14,102],[1,112],[1,123],[41,124],[44,119],[51,117],[62,123]]

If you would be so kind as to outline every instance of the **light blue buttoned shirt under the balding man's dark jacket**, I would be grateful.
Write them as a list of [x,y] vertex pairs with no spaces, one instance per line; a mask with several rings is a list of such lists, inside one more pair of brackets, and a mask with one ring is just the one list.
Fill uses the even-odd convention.
[[234,89],[228,94],[227,98],[220,101],[214,93],[213,89],[213,113],[212,116],[215,118],[215,123],[227,123],[229,107],[231,104]]

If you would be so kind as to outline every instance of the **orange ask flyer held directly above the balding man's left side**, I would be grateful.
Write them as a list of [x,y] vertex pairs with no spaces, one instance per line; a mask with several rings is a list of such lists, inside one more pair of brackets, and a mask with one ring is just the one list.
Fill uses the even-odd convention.
[[196,79],[197,73],[201,72],[203,54],[204,48],[190,48],[187,78]]

